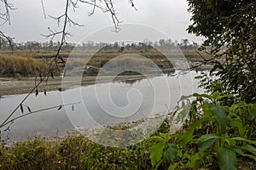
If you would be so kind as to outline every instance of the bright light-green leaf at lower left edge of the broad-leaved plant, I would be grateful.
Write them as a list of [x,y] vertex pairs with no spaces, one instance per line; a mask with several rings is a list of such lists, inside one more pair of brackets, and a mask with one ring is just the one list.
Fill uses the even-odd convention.
[[151,164],[154,167],[157,162],[160,161],[163,152],[164,152],[165,144],[155,144],[151,147],[150,149],[150,159],[151,159]]

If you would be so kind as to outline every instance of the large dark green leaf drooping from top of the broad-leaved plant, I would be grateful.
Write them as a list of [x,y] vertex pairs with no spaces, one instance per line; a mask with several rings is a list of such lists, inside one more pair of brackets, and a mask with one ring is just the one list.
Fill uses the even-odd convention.
[[224,133],[229,122],[229,108],[227,106],[217,106],[209,104],[209,109],[212,111],[212,115],[215,116],[218,121],[220,133]]

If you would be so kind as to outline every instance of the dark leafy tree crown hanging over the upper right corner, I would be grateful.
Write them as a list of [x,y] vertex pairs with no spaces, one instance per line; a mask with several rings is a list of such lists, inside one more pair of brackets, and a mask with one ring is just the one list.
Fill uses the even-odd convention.
[[210,77],[203,77],[202,85],[209,92],[235,94],[247,103],[255,103],[256,2],[188,2],[193,20],[188,31],[206,37],[202,49],[210,49],[210,54],[214,57]]

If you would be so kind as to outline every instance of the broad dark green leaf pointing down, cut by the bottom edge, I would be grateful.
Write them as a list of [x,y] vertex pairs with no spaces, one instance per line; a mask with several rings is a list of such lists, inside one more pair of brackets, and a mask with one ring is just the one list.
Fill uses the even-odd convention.
[[218,150],[218,167],[222,170],[236,170],[236,153],[225,147]]

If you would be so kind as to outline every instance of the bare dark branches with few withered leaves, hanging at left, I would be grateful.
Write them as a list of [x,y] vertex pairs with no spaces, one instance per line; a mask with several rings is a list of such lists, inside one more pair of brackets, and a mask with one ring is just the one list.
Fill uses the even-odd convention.
[[[8,3],[7,0],[0,0],[2,3],[5,4],[5,8],[6,8],[6,12],[4,14],[0,14],[0,19],[6,19],[6,21],[9,21],[9,9],[14,9],[13,7],[13,4],[12,3]],[[101,3],[102,1],[99,0],[99,2]],[[131,6],[133,8],[134,7],[134,4],[132,3],[132,0],[130,0],[131,2]],[[43,0],[41,1],[42,4],[43,3]],[[60,52],[61,52],[61,48],[64,44],[64,42],[66,42],[66,38],[68,36],[70,36],[70,32],[67,32],[67,24],[69,24],[69,26],[82,26],[82,25],[79,25],[77,22],[73,21],[69,15],[68,15],[68,8],[70,7],[73,7],[73,10],[75,10],[75,8],[78,7],[78,3],[86,3],[86,4],[90,4],[93,6],[93,9],[92,9],[92,12],[89,14],[94,14],[95,13],[95,8],[100,8],[102,10],[102,12],[104,13],[107,13],[109,12],[111,14],[111,17],[112,17],[112,20],[113,20],[113,25],[115,27],[115,30],[118,31],[119,30],[119,24],[120,24],[120,21],[119,19],[117,18],[117,13],[113,7],[113,1],[112,0],[104,0],[104,3],[106,5],[106,8],[103,8],[101,5],[97,4],[96,3],[96,0],[90,0],[90,1],[84,1],[84,0],[67,0],[66,2],[66,8],[65,8],[65,13],[64,14],[61,14],[60,16],[58,17],[53,17],[53,16],[50,16],[52,19],[56,20],[57,21],[57,25],[60,26],[61,24],[61,20],[63,20],[63,26],[62,26],[62,29],[61,31],[52,31],[50,28],[49,28],[49,35],[43,35],[44,37],[50,37],[51,39],[53,39],[56,35],[61,35],[61,43],[60,43],[60,46],[59,48],[57,49],[57,52],[55,54],[55,57],[54,59],[52,59],[49,63],[49,69],[47,71],[47,73],[44,75],[44,77],[42,75],[40,75],[40,81],[39,82],[35,82],[35,86],[34,88],[31,89],[31,91],[26,94],[25,98],[22,99],[20,101],[20,104],[18,104],[15,109],[9,114],[9,116],[7,116],[7,118],[1,123],[0,125],[0,128],[8,125],[9,123],[11,122],[14,122],[14,119],[11,119],[11,116],[13,116],[15,114],[15,111],[17,111],[19,108],[21,109],[22,108],[22,105],[24,105],[23,103],[25,102],[25,100],[35,92],[36,96],[38,95],[38,87],[40,86],[40,84],[42,82],[45,82],[47,83],[48,80],[49,80],[49,77],[52,77],[54,78],[54,75],[53,75],[53,71],[55,69],[58,69],[58,65],[59,64],[65,64],[65,61],[64,59],[60,56]],[[43,7],[44,8],[44,7]],[[10,23],[10,21],[9,21]],[[2,31],[0,31],[0,40],[1,40],[1,36],[3,38],[5,38],[6,40],[8,40],[9,42],[12,42],[13,38],[11,37],[6,37],[4,36],[4,34],[2,35]],[[44,90],[44,94],[46,94],[46,91]],[[74,103],[75,104],[75,103]],[[72,105],[72,104],[68,104],[68,105]],[[25,105],[26,106],[26,105]],[[54,109],[56,107],[60,108],[64,105],[58,105],[58,106],[54,106],[54,107],[49,107],[49,108],[46,108],[46,109],[43,109],[43,110],[38,110],[38,111],[31,111],[30,108],[28,106],[27,109],[29,111],[29,113],[26,113],[22,116],[17,116],[15,117],[15,120],[20,118],[20,117],[23,117],[23,116],[27,116],[27,115],[30,115],[32,113],[35,113],[35,112],[39,112],[39,111],[46,111],[46,110],[49,110],[49,109]],[[72,107],[73,108],[73,107]],[[23,110],[23,108],[22,108]],[[10,125],[9,125],[10,126]]]

